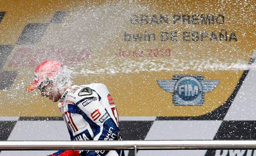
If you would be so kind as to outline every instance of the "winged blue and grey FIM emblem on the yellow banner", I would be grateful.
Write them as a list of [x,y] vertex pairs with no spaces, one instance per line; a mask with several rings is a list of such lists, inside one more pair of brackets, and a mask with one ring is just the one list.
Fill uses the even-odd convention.
[[202,75],[174,75],[172,80],[157,80],[158,85],[172,94],[176,106],[200,106],[204,104],[204,94],[212,91],[219,80],[204,80]]

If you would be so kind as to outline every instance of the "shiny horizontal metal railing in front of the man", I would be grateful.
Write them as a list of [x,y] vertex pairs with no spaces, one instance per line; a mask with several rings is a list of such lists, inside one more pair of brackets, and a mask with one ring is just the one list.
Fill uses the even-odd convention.
[[0,150],[206,150],[256,149],[251,140],[0,141]]

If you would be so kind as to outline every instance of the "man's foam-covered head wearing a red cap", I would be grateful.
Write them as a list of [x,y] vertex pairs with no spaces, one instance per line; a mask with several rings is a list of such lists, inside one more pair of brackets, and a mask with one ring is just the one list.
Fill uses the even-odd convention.
[[38,88],[42,96],[57,102],[65,91],[65,86],[70,85],[68,70],[60,62],[45,60],[36,67],[34,82],[27,86],[26,90],[34,91]]

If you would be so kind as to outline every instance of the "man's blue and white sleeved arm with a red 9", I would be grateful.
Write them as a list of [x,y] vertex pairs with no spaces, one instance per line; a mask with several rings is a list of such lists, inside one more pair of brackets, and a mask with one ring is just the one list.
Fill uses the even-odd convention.
[[[118,140],[119,128],[100,103],[99,95],[93,91],[90,96],[82,96],[76,103],[90,126],[95,129],[93,140]],[[88,151],[86,156],[104,156],[108,151]]]

